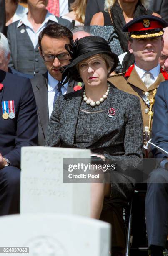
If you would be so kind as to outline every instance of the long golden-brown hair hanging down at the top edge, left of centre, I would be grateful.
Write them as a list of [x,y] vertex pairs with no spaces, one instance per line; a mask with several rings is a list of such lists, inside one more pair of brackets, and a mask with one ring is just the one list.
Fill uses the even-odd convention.
[[85,12],[86,12],[87,0],[75,0],[70,8],[75,12],[76,20],[81,23],[85,22]]

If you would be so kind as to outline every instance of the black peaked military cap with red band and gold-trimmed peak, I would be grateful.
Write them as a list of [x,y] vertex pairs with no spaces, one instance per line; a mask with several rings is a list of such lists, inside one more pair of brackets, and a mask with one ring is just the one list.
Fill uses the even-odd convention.
[[128,32],[132,39],[145,39],[163,36],[163,28],[168,23],[154,15],[142,15],[128,22],[123,27],[123,32]]

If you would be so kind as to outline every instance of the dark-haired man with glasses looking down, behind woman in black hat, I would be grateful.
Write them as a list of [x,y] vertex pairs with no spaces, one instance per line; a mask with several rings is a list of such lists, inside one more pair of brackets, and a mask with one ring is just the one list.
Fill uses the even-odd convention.
[[44,146],[47,126],[56,98],[61,94],[73,92],[73,87],[77,84],[74,81],[68,81],[64,85],[60,83],[62,74],[59,69],[70,62],[65,44],[70,44],[72,39],[72,32],[58,23],[48,25],[39,34],[39,51],[48,70],[45,74],[38,74],[31,79],[38,107],[39,146]]

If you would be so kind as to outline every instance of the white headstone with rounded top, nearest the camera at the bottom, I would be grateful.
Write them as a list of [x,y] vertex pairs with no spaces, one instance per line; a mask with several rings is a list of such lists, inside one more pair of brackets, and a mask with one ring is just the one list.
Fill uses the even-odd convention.
[[1,247],[28,247],[25,256],[109,256],[110,251],[110,224],[81,216],[10,215],[0,217],[0,232]]

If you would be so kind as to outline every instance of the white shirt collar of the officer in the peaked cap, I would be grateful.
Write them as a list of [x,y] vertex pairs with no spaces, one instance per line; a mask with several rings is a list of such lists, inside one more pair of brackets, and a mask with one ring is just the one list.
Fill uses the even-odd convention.
[[[142,79],[142,81],[144,82],[144,80],[145,80],[145,72],[147,72],[147,71],[137,67],[136,63],[135,63],[135,70],[138,73],[138,75],[140,76],[140,78]],[[156,79],[158,78],[158,75],[160,73],[160,64],[158,64],[156,67],[154,67],[153,69],[149,70],[148,72],[150,72],[152,74],[150,79],[151,79],[151,82],[154,83],[156,81]]]

